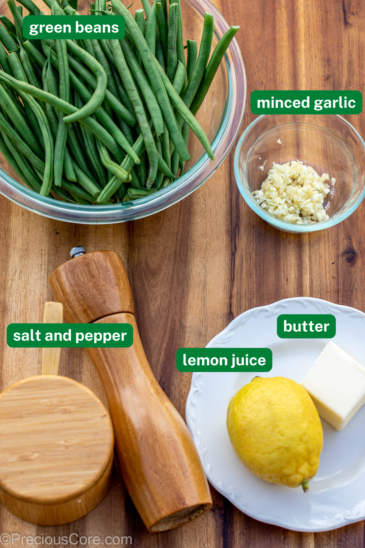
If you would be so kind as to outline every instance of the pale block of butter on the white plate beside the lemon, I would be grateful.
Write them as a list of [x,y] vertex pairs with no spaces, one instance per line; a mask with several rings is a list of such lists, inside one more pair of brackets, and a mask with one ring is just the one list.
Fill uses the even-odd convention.
[[329,341],[302,385],[312,397],[318,414],[342,430],[365,403],[365,368]]

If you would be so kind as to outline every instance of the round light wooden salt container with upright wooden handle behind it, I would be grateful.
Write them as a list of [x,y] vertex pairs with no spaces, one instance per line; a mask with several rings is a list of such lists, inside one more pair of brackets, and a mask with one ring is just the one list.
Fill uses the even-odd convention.
[[[46,302],[43,323],[62,323]],[[57,376],[60,349],[42,350],[42,375],[0,394],[0,501],[22,520],[60,525],[85,516],[107,494],[113,426],[86,386]]]

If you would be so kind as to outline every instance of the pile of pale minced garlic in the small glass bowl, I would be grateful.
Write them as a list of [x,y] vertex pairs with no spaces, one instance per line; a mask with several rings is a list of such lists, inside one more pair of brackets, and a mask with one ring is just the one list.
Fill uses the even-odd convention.
[[[320,177],[299,160],[276,164],[269,170],[261,189],[252,192],[260,206],[277,219],[297,224],[314,224],[329,219],[323,202],[330,191],[328,173]],[[335,179],[331,179],[332,185]]]

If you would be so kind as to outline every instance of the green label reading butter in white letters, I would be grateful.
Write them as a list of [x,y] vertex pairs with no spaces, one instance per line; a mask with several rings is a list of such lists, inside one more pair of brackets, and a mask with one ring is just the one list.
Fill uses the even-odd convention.
[[281,339],[332,339],[336,334],[333,314],[281,314],[277,335]]

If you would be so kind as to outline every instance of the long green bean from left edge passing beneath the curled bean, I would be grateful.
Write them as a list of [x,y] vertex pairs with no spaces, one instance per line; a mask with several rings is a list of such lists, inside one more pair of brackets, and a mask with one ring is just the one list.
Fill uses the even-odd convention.
[[[27,84],[26,82],[21,82],[15,78],[12,78],[3,71],[0,71],[0,81],[7,83],[18,91],[20,90],[21,92],[25,92],[41,101],[48,102],[55,109],[59,109],[62,112],[65,112],[65,114],[73,114],[78,112],[78,109],[68,102],[63,101],[50,93],[44,92],[42,89],[38,89],[31,84]],[[94,135],[99,137],[107,149],[113,153],[118,162],[121,161],[121,151],[119,145],[113,136],[102,127],[102,125],[90,118],[90,116],[80,119],[79,122],[89,128]]]

